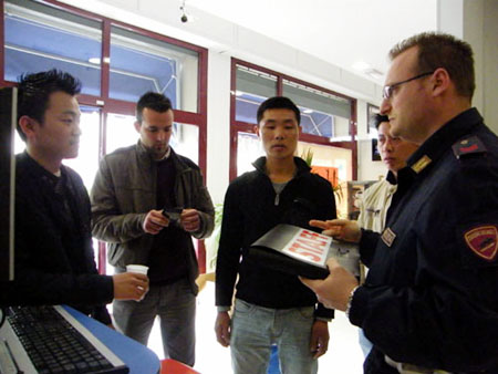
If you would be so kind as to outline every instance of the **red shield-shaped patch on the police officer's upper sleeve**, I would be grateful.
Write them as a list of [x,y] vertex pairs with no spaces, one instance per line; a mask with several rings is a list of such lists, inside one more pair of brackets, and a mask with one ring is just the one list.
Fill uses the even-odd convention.
[[498,229],[494,225],[475,227],[464,233],[467,246],[475,254],[492,261],[498,253]]

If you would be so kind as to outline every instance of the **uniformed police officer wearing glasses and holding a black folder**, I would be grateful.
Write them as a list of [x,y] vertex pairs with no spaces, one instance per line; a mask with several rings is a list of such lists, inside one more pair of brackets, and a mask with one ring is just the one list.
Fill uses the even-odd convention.
[[334,260],[303,280],[346,311],[374,347],[365,373],[498,373],[498,138],[471,107],[470,46],[422,33],[391,51],[381,112],[419,144],[398,172],[398,202],[378,235],[312,221],[360,243],[363,285]]

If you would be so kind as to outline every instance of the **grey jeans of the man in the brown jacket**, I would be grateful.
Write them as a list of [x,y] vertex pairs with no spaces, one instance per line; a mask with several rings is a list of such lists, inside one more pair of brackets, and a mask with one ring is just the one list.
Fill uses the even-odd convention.
[[151,285],[144,300],[114,300],[113,316],[118,331],[147,345],[156,315],[160,321],[166,359],[194,366],[196,349],[196,297],[187,279]]

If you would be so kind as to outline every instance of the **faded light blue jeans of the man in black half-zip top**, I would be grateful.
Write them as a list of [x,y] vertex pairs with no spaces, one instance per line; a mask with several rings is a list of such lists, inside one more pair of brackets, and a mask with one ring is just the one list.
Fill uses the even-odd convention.
[[236,300],[230,352],[235,374],[266,374],[277,344],[282,374],[315,374],[310,352],[314,307],[270,309]]

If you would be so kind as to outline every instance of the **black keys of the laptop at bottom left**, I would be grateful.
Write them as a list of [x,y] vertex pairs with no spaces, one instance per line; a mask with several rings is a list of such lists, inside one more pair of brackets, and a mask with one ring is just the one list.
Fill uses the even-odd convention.
[[39,373],[117,373],[53,307],[10,308],[8,320]]

